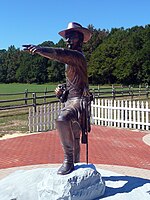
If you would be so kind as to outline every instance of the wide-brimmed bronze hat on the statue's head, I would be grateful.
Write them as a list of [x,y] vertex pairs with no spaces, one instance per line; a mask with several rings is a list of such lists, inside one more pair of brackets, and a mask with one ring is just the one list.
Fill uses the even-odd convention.
[[60,31],[59,35],[61,35],[63,38],[65,38],[66,33],[70,32],[70,31],[79,31],[79,32],[83,33],[83,35],[84,35],[83,42],[87,42],[92,36],[92,33],[89,29],[82,27],[80,24],[78,24],[76,22],[70,22],[68,24],[67,29]]

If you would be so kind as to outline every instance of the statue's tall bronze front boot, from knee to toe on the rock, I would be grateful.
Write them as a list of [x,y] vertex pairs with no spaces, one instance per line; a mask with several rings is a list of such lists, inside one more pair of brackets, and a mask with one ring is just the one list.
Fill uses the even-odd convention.
[[74,137],[71,130],[70,121],[56,121],[57,130],[59,132],[60,141],[64,151],[64,162],[58,169],[57,174],[69,174],[74,169],[73,151]]

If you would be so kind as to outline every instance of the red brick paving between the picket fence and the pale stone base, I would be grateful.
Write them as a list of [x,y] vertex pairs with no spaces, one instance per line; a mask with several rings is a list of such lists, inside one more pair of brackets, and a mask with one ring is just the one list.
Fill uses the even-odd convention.
[[[89,162],[150,170],[150,146],[143,137],[150,132],[92,126]],[[56,130],[0,140],[0,169],[62,163],[63,151]],[[81,145],[81,162],[86,161]]]

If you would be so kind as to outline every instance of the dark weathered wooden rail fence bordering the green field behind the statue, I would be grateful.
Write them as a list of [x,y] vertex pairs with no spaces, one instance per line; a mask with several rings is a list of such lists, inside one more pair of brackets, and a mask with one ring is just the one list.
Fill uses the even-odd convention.
[[[107,98],[107,99],[117,99],[119,97],[126,97],[133,99],[134,97],[143,96],[145,99],[149,98],[150,90],[149,86],[145,88],[132,88],[132,87],[109,87],[109,88],[100,88],[91,89],[95,98]],[[56,100],[54,91],[48,91],[47,89],[43,92],[29,92],[27,89],[24,92],[19,93],[9,93],[9,94],[0,94],[0,110],[16,109],[33,106],[36,109],[36,106],[42,104],[48,104],[51,101]]]

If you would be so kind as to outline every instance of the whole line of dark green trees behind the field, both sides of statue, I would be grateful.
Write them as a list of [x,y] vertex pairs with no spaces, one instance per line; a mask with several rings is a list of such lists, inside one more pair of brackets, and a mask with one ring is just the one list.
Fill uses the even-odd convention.
[[[150,84],[150,24],[110,31],[95,29],[83,45],[90,84]],[[65,48],[63,39],[40,46]],[[65,66],[39,55],[30,55],[14,45],[0,50],[1,83],[64,82]]]

